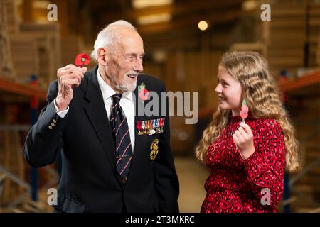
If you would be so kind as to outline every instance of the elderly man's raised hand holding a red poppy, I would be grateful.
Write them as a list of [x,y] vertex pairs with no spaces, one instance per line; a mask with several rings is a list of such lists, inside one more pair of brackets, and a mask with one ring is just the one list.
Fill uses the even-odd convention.
[[81,80],[87,72],[87,67],[76,67],[75,65],[67,65],[58,69],[58,95],[55,99],[55,104],[58,106],[58,111],[67,109],[71,99],[73,99],[73,88],[79,87]]

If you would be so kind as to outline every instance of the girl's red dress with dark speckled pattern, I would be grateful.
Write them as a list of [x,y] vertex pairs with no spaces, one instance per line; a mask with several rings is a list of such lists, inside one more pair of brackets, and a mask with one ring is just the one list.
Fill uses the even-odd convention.
[[[201,212],[277,212],[284,182],[282,128],[272,118],[249,115],[245,123],[252,130],[255,153],[243,160],[232,137],[240,121],[240,116],[231,116],[220,137],[208,148],[206,165],[211,172]],[[266,194],[268,190],[270,194]]]

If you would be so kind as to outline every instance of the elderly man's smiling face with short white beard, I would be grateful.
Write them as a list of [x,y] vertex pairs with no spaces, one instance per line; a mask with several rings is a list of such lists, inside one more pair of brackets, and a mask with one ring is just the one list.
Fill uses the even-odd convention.
[[115,91],[133,92],[137,86],[138,73],[144,70],[144,44],[135,31],[124,31],[120,37],[114,45],[114,55],[108,55],[106,73]]

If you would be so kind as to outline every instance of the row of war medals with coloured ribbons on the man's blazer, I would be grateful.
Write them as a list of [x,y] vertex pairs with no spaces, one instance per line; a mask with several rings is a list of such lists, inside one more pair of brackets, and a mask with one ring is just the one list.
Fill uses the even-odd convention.
[[154,135],[164,132],[164,118],[137,121],[138,135]]

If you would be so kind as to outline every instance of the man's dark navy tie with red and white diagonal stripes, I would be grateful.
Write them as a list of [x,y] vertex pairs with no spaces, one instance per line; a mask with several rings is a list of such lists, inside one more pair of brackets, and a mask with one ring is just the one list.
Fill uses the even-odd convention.
[[127,118],[122,113],[122,108],[120,106],[121,96],[122,94],[114,94],[112,96],[110,125],[116,149],[117,172],[121,176],[122,182],[125,183],[127,181],[132,160],[132,147]]

